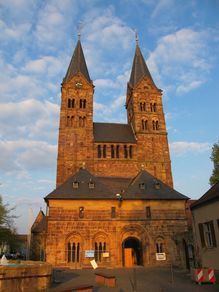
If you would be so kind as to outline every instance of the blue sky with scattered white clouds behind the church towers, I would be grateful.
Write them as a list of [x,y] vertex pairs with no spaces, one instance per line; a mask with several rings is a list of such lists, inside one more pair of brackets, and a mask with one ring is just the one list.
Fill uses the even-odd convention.
[[[60,84],[81,42],[95,84],[94,120],[126,122],[126,84],[139,45],[164,91],[174,187],[209,189],[219,140],[218,0],[0,0],[0,194],[27,232],[55,188]],[[30,217],[30,216],[29,216]]]

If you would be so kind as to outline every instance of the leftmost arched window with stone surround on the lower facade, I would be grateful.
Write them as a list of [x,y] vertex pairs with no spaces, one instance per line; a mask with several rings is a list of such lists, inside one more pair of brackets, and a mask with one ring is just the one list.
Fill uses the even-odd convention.
[[78,232],[71,232],[65,239],[65,262],[80,266],[82,261],[83,238]]

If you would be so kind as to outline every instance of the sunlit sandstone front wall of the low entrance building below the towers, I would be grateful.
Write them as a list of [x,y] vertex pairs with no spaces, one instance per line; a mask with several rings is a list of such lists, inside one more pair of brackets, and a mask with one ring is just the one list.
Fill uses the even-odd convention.
[[[47,261],[74,268],[91,267],[91,259],[85,257],[85,251],[97,251],[95,243],[99,251],[101,243],[102,250],[109,252],[109,257],[95,255],[98,266],[122,267],[125,265],[125,244],[128,243],[134,246],[135,264],[149,266],[171,262],[179,266],[174,238],[177,233],[187,231],[184,203],[164,201],[161,206],[158,201],[124,201],[118,206],[117,201],[51,200]],[[82,206],[85,211],[84,217],[80,218],[78,210]],[[114,218],[112,207],[116,210]],[[150,207],[151,216],[147,217],[146,207]],[[79,257],[77,259],[75,254],[74,261],[71,256],[68,259],[69,243],[79,247]],[[166,253],[164,262],[156,261],[157,244],[162,245],[162,252]]]

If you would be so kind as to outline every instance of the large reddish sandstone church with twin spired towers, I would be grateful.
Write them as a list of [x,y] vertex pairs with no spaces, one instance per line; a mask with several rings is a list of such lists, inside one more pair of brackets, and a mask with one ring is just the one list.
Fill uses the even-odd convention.
[[78,38],[61,84],[56,189],[38,216],[55,266],[183,265],[176,238],[187,231],[188,198],[173,189],[162,90],[138,41],[127,81],[127,123],[94,122]]

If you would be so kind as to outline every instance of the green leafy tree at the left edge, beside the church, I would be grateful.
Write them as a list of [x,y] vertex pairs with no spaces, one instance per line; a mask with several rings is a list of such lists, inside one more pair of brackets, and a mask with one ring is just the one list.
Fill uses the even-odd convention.
[[14,210],[14,208],[9,208],[8,204],[3,204],[0,195],[0,244],[2,246],[7,244],[11,249],[14,249],[17,240],[13,219],[16,218],[16,216],[10,214],[12,210]]

